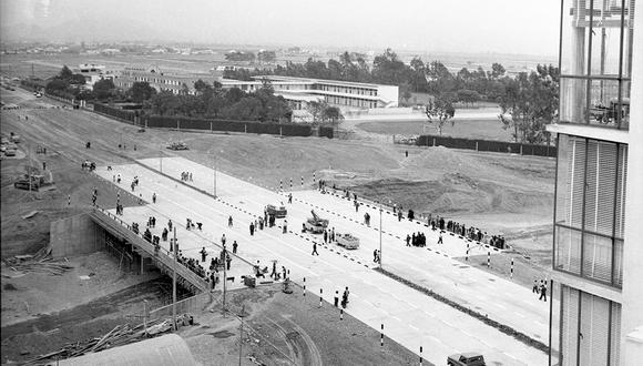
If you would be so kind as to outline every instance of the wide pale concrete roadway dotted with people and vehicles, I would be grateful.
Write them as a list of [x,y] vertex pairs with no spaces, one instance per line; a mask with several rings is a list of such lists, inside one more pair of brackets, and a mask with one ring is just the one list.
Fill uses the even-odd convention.
[[[160,159],[140,163],[152,170],[161,169]],[[289,270],[293,281],[303,285],[303,278],[306,278],[309,296],[317,296],[323,289],[324,299],[331,304],[335,291],[341,294],[348,286],[350,303],[347,313],[375,329],[380,329],[384,324],[387,337],[416,354],[422,346],[422,355],[429,362],[443,364],[450,354],[478,350],[490,364],[547,364],[544,353],[372,271],[372,251],[379,248],[379,232],[375,230],[379,223],[377,210],[369,210],[371,227],[367,227],[359,223],[365,206],[355,213],[354,206],[346,200],[316,191],[294,192],[293,204],[287,204],[289,232],[283,234],[282,228],[273,227],[257,231],[251,236],[249,222],[263,214],[266,204],[286,202],[285,195],[217,172],[215,200],[140,164],[112,167],[108,171],[101,166],[96,173],[110,182],[120,174],[121,187],[126,191],[131,191],[133,177],[139,176],[140,185],[133,193],[146,201],[141,207],[125,207],[127,221],[137,221],[144,227],[147,216],[154,215],[157,227],[159,223],[163,225],[169,218],[180,226],[185,224],[186,217],[203,223],[203,232],[178,233],[178,243],[186,255],[200,257],[202,246],[206,246],[211,254],[218,253],[217,245],[225,233],[228,245],[236,240],[238,255],[247,261],[233,261],[232,273],[235,275],[241,275],[244,268],[249,274],[248,263],[259,261],[262,266],[269,267],[276,260],[278,268],[284,265]],[[206,192],[213,191],[213,170],[206,166],[181,157],[164,157],[162,171],[176,180],[181,172],[191,172],[194,181],[190,184]],[[156,204],[150,203],[153,193],[159,197]],[[350,232],[358,236],[360,248],[345,251],[334,244],[318,245],[320,255],[312,256],[312,241],[323,244],[323,238],[320,235],[300,233],[302,223],[310,216],[310,205],[320,216],[329,218],[329,226],[337,232]],[[233,227],[227,225],[231,215],[234,218]],[[277,224],[280,226],[283,220]],[[537,302],[528,289],[519,285],[452,260],[452,256],[460,256],[466,251],[466,244],[457,237],[445,235],[445,244],[437,247],[433,244],[437,241],[435,233],[425,231],[427,246],[431,251],[427,247],[406,247],[397,238],[406,236],[411,230],[417,232],[420,226],[408,221],[397,222],[390,214],[382,215],[382,263],[387,271],[414,278],[451,299],[466,301],[476,311],[547,343],[548,303]],[[166,242],[161,244],[167,246]],[[481,247],[473,247],[472,251],[478,251],[473,254],[487,252]],[[243,263],[241,270],[239,263]],[[378,344],[379,339],[374,339],[374,348]]]

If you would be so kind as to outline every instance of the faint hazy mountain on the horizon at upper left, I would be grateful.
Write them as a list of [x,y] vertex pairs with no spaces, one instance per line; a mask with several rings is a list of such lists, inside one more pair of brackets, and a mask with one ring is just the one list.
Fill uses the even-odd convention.
[[132,41],[169,39],[166,34],[131,19],[70,20],[58,24],[2,24],[2,41]]

